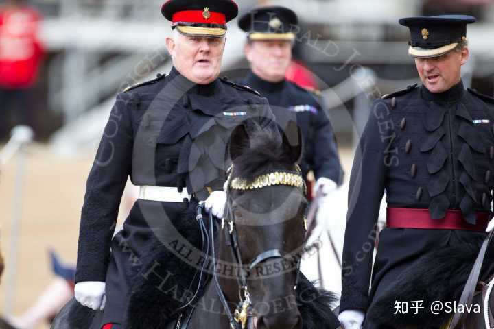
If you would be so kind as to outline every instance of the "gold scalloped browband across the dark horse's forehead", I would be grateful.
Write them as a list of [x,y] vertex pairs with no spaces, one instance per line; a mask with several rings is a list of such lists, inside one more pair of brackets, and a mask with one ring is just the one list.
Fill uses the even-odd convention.
[[266,186],[287,185],[300,188],[305,193],[305,181],[298,173],[286,173],[276,171],[274,173],[266,173],[265,175],[257,176],[252,182],[244,178],[233,178],[230,183],[230,188],[233,190],[253,190]]

